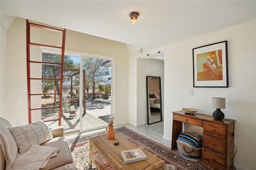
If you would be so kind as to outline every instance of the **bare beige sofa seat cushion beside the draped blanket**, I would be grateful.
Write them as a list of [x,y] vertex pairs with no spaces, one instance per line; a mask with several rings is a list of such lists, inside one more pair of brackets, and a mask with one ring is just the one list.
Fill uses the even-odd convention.
[[73,163],[73,158],[70,152],[70,148],[68,147],[68,144],[64,137],[52,138],[51,140],[48,140],[41,145],[60,148],[60,150],[57,156],[50,158],[46,167],[40,170],[53,170],[61,166],[64,166],[65,164]]

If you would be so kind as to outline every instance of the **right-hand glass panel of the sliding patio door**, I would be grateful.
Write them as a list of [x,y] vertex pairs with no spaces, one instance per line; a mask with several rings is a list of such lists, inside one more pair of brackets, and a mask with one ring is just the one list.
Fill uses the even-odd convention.
[[81,130],[107,127],[111,113],[111,61],[84,57],[82,66]]

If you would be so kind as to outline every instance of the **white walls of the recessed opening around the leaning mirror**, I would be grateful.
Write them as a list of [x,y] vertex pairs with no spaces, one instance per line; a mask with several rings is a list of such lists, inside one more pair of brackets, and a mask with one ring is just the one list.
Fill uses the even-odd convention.
[[[137,59],[137,106],[139,106],[137,107],[137,126],[148,123],[146,76],[161,77],[162,105],[164,106],[164,61]],[[164,107],[162,112],[164,114]]]

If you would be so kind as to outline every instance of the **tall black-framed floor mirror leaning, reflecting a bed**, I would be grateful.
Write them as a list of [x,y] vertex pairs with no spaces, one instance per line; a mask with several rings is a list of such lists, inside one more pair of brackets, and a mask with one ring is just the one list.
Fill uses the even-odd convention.
[[161,77],[146,76],[148,125],[162,121]]

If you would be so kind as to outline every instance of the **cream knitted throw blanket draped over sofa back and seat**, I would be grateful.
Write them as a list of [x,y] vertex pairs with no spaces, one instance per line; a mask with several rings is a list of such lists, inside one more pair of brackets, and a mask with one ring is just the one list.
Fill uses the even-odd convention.
[[33,145],[25,153],[18,153],[18,146],[8,130],[10,123],[0,118],[0,145],[6,160],[6,170],[37,170],[44,168],[60,148]]

